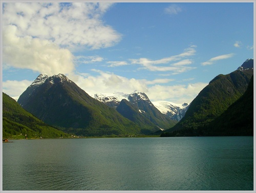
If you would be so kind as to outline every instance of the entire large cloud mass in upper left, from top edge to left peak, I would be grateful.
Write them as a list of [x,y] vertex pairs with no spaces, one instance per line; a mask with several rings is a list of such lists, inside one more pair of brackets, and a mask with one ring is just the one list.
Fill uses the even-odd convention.
[[[110,3],[5,3],[3,63],[48,75],[72,73],[71,49],[111,47],[121,35],[101,16]],[[92,62],[103,58],[89,58]]]

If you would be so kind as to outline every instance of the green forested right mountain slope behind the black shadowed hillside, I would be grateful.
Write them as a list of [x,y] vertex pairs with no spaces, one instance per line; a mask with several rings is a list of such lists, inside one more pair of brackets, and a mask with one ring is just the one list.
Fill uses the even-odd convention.
[[224,113],[246,91],[253,75],[253,68],[245,66],[251,67],[248,63],[252,60],[246,60],[241,66],[243,68],[227,75],[220,74],[212,79],[190,103],[180,122],[166,132],[183,130],[183,133],[187,131],[185,135],[194,135],[198,128],[206,128],[211,121]]

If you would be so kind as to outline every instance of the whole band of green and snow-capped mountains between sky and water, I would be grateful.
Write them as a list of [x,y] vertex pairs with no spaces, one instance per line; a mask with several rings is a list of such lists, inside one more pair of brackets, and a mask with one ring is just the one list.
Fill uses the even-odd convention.
[[253,59],[216,76],[190,104],[152,102],[139,91],[90,96],[63,74],[40,74],[17,102],[3,95],[4,137],[253,135]]

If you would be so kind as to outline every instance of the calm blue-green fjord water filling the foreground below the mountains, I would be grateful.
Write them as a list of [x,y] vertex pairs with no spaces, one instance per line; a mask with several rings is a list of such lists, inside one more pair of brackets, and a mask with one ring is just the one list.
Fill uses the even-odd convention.
[[253,190],[253,137],[13,141],[3,190]]

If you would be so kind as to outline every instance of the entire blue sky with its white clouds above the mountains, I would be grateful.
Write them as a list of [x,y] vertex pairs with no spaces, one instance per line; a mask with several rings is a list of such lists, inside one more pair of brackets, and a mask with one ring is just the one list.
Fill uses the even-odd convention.
[[2,90],[15,99],[62,73],[90,95],[190,103],[254,57],[253,1],[2,2]]

